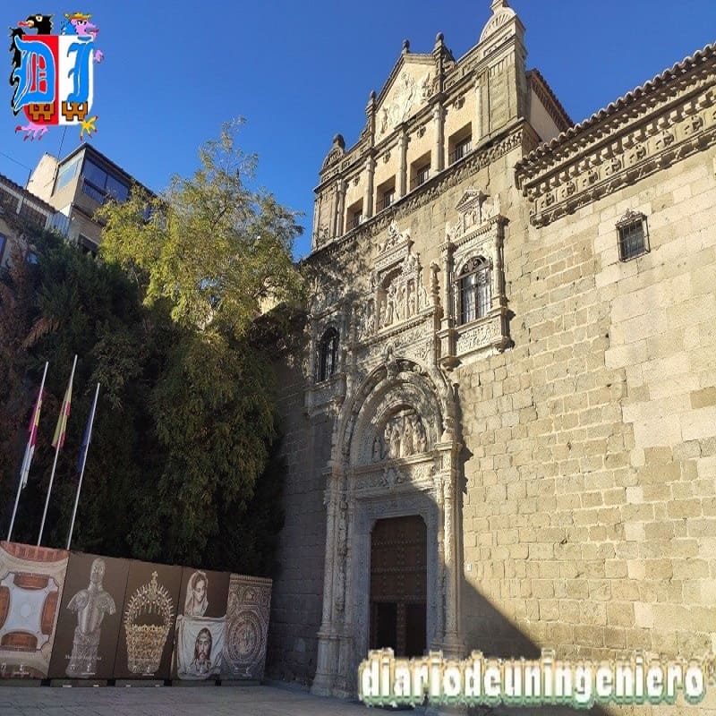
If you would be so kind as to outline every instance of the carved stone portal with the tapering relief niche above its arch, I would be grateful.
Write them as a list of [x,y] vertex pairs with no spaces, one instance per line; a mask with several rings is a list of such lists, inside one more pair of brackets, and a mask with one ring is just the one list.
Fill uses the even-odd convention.
[[[437,291],[429,296],[423,285],[410,236],[395,225],[387,234],[371,292],[354,306],[363,310],[352,319],[345,400],[337,408],[326,470],[323,614],[312,686],[320,695],[357,693],[358,666],[371,644],[371,533],[379,520],[417,516],[424,524],[424,601],[410,602],[424,603],[419,641],[454,657],[465,651],[459,633],[461,445],[455,391],[439,366],[439,301]],[[423,609],[392,603],[401,623],[418,620]],[[384,618],[385,609],[393,608],[384,608]]]

